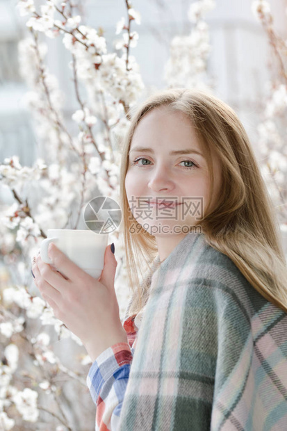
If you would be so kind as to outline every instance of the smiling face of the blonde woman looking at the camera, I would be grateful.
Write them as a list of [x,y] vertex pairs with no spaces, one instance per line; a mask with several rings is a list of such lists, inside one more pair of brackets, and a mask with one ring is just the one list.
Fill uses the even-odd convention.
[[[213,168],[216,191],[220,163],[215,157]],[[190,226],[200,225],[209,187],[207,162],[188,117],[164,106],[147,113],[133,135],[125,179],[137,222],[156,237],[188,234]]]

